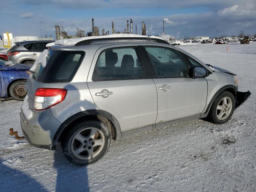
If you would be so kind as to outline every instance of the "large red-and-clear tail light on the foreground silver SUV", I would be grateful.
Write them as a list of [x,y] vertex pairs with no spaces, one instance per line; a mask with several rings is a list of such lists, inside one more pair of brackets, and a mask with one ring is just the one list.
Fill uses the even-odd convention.
[[68,90],[58,88],[38,88],[35,93],[35,110],[45,110],[62,102]]

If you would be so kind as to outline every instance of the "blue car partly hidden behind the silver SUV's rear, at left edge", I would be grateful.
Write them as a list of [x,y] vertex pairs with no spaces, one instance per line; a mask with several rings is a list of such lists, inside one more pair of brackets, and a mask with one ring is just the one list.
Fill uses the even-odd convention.
[[27,92],[26,81],[30,75],[31,65],[14,64],[0,60],[0,98],[12,97],[24,100]]

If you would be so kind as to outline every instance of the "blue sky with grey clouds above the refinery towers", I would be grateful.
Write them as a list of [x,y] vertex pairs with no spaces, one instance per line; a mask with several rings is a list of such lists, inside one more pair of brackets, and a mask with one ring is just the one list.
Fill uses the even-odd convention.
[[0,35],[52,35],[54,25],[64,26],[68,35],[76,28],[100,32],[124,31],[127,20],[133,20],[133,30],[141,32],[142,21],[147,35],[164,33],[173,38],[185,36],[256,34],[256,0],[0,0]]

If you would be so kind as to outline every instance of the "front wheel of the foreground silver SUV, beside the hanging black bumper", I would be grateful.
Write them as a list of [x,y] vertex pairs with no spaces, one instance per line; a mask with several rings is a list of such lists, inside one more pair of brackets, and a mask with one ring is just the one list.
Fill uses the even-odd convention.
[[234,112],[235,103],[236,100],[232,93],[222,91],[213,102],[206,120],[216,124],[227,122]]

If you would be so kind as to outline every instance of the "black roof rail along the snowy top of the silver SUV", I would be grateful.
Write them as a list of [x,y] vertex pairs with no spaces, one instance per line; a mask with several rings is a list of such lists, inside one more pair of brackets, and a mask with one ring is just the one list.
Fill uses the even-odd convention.
[[168,44],[167,41],[158,38],[150,38],[150,37],[115,37],[115,38],[95,38],[95,39],[86,39],[82,40],[75,44],[75,46],[82,46],[82,45],[90,45],[92,42],[101,42],[101,41],[115,41],[115,40],[150,40],[158,43]]

